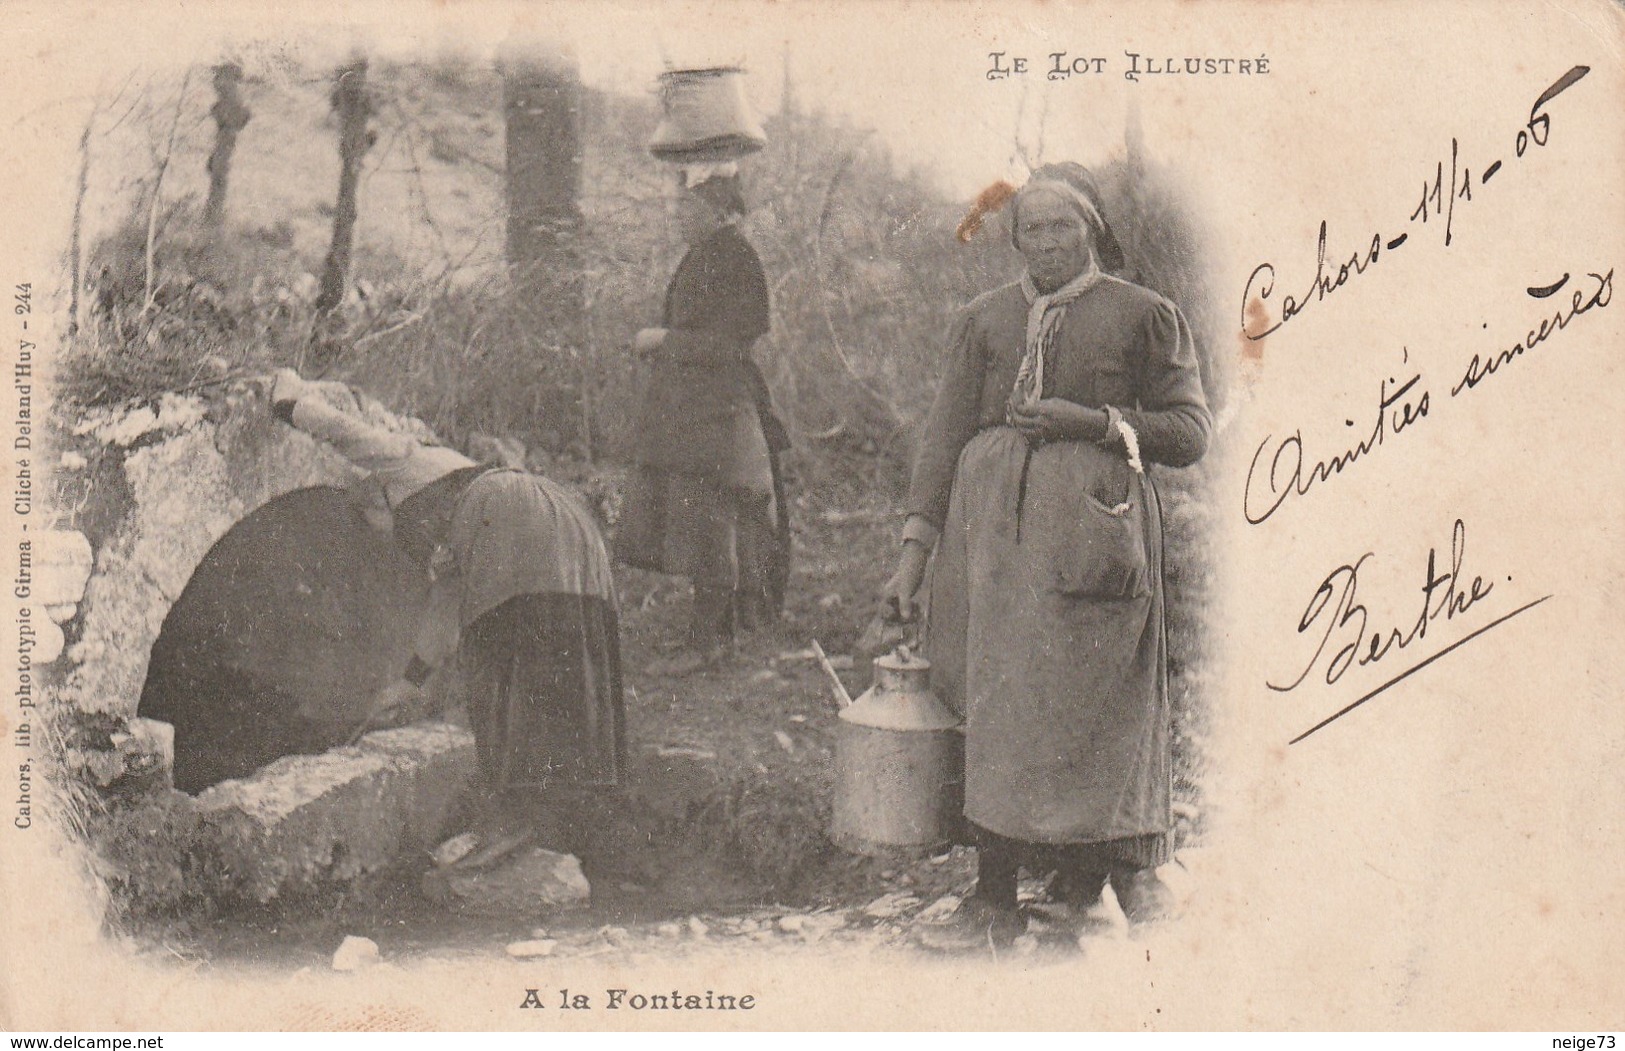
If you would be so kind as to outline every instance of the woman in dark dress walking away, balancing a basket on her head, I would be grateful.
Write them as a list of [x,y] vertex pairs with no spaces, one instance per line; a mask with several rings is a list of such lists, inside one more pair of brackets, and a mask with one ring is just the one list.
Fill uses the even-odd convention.
[[788,562],[777,461],[788,442],[751,359],[769,330],[767,278],[738,227],[739,177],[722,167],[686,172],[678,219],[689,250],[663,327],[634,343],[653,374],[616,557],[694,583],[687,651],[652,666],[665,674],[713,663],[736,627],[775,616]]

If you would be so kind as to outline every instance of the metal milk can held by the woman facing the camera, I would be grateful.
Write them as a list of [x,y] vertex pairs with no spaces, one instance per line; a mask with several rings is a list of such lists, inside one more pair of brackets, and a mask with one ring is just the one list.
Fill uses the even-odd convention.
[[965,734],[908,647],[874,661],[874,686],[840,711],[835,845],[925,854],[952,841],[965,799]]

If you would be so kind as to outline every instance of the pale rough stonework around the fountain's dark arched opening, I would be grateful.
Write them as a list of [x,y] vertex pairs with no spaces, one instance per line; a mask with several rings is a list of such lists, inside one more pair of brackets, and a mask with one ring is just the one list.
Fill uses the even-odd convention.
[[[370,400],[362,408],[372,422],[432,437]],[[265,502],[348,486],[358,469],[276,421],[252,383],[94,409],[58,421],[55,443],[54,499],[41,510],[57,531],[36,575],[58,590],[83,582],[83,595],[52,596],[65,648],[39,648],[36,668],[73,786],[65,794],[84,802],[70,824],[88,828],[112,900],[132,913],[268,902],[431,845],[473,765],[466,731],[380,731],[192,798],[162,776],[172,747],[162,726],[136,718],[153,643],[210,547]]]

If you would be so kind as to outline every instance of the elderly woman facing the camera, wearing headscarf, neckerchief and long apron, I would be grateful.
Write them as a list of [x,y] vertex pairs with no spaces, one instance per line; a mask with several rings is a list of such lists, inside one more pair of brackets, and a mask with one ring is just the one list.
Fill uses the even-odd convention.
[[1034,172],[1011,211],[1027,271],[973,301],[908,489],[884,599],[913,608],[934,546],[933,687],[965,718],[977,890],[939,949],[1022,929],[1022,864],[1077,908],[1110,879],[1155,915],[1170,858],[1162,510],[1147,463],[1185,466],[1211,416],[1191,331],[1123,263],[1077,164]]

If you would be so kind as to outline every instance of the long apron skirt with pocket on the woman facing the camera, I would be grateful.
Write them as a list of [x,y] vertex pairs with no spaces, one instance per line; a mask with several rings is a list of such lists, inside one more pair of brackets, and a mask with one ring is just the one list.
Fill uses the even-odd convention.
[[1092,443],[960,455],[931,577],[933,689],[965,718],[965,817],[1160,864],[1172,827],[1162,510]]

